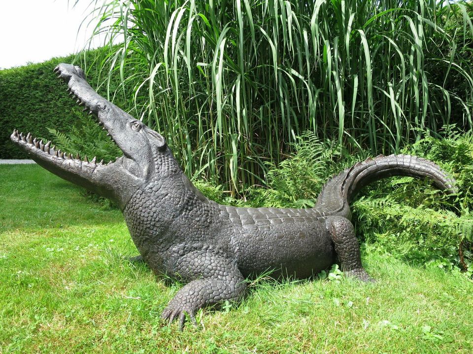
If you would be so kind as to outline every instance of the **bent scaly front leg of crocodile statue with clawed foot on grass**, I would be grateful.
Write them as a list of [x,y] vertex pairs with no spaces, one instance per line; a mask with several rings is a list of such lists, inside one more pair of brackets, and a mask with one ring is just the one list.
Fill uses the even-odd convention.
[[175,273],[191,280],[182,287],[161,314],[171,324],[179,318],[182,330],[186,314],[196,323],[195,314],[204,306],[239,299],[245,289],[245,279],[234,262],[210,252],[191,252],[179,259]]

